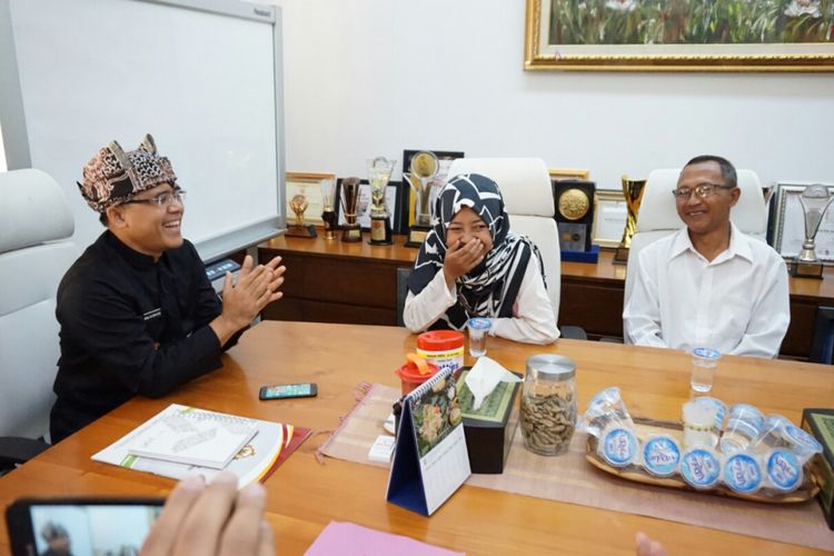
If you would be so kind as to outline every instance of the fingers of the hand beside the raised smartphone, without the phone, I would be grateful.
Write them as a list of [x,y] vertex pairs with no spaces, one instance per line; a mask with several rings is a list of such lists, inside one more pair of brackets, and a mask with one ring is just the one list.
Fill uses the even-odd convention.
[[275,555],[272,528],[264,519],[267,493],[259,483],[237,489],[228,471],[206,485],[195,475],[182,479],[165,503],[145,539],[142,556]]

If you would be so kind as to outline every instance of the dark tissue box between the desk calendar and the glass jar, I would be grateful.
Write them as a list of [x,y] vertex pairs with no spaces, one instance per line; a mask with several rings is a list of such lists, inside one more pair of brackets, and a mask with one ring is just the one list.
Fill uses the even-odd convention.
[[504,473],[504,463],[518,427],[516,398],[522,383],[498,383],[475,411],[471,407],[473,395],[464,381],[467,373],[460,373],[457,385],[469,467],[473,473]]

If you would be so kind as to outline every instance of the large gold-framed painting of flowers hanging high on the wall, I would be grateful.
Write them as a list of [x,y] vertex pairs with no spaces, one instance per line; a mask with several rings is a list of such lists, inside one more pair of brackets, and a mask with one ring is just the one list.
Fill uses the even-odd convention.
[[[825,34],[825,26],[834,24],[828,21],[834,14],[821,9],[818,2],[791,0],[785,7],[774,7],[775,0],[728,1],[747,10],[744,13],[749,21],[743,19],[733,27],[717,19],[724,12],[709,9],[714,0],[691,0],[689,11],[671,14],[678,18],[675,21],[665,17],[664,0],[616,0],[606,2],[613,7],[603,13],[598,2],[527,0],[524,69],[834,71],[834,40]],[[689,21],[701,4],[716,21]],[[785,19],[790,21],[785,23]],[[714,24],[717,22],[722,24]],[[722,36],[713,37],[716,32]],[[684,39],[688,42],[682,42]]]

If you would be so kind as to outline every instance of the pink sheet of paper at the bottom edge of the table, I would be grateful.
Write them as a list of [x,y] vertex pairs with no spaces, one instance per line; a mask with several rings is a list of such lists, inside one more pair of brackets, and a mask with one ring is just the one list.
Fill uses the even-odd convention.
[[341,556],[388,556],[390,554],[397,556],[451,556],[464,553],[438,548],[401,535],[391,535],[353,523],[330,522],[305,555],[331,556],[332,554]]

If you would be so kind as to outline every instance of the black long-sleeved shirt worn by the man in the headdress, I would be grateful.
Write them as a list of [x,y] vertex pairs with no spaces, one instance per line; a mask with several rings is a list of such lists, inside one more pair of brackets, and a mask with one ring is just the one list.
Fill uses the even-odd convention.
[[106,231],[63,276],[57,302],[53,443],[136,394],[163,396],[219,368],[238,337],[221,347],[208,326],[221,305],[188,241],[155,261]]

